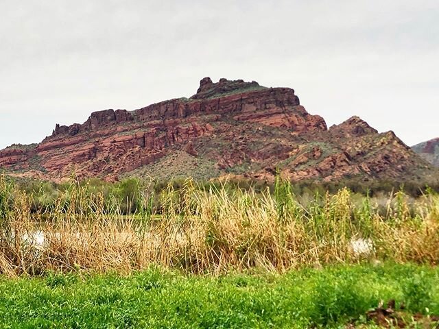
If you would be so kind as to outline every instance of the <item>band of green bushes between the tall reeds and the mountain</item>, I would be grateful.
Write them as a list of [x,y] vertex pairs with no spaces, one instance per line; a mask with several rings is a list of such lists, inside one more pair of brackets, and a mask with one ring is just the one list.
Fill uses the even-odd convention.
[[[211,171],[209,169],[211,164],[203,164],[203,166],[206,167],[206,171]],[[102,198],[104,209],[107,211],[120,208],[122,215],[139,213],[143,210],[145,204],[150,204],[151,206],[152,203],[154,208],[161,208],[161,195],[169,185],[173,186],[176,193],[180,193],[187,175],[179,175],[178,177],[173,180],[161,180],[145,176],[143,179],[125,178],[120,182],[114,183],[105,182],[99,178],[92,178],[82,182],[73,180],[62,184],[38,180],[18,180],[13,184],[10,180],[5,180],[3,176],[2,187],[0,187],[0,193],[3,193],[0,196],[0,207],[3,208],[0,208],[0,217],[1,213],[5,212],[5,207],[7,208],[8,204],[10,205],[13,195],[12,190],[25,191],[32,199],[32,212],[41,212],[54,209],[56,207],[55,203],[60,197],[64,198],[64,208],[67,210],[72,202],[72,194],[75,194],[75,191],[78,192],[78,188],[82,188],[84,190],[82,195],[89,197],[93,202],[96,202],[98,198]],[[280,212],[285,211],[286,208],[296,209],[296,202],[303,203],[306,199],[313,199],[316,195],[325,195],[327,192],[335,194],[344,187],[359,196],[364,195],[370,198],[388,198],[388,195],[393,191],[400,191],[400,194],[395,194],[395,202],[399,202],[399,204],[401,204],[401,195],[405,195],[406,198],[420,197],[439,191],[439,186],[418,186],[410,183],[405,183],[404,185],[396,182],[354,183],[347,181],[290,183],[286,180],[281,180],[279,177],[276,177],[274,184],[261,181],[230,179],[226,182],[198,180],[195,185],[204,190],[209,190],[209,188],[225,188],[228,193],[246,190],[254,191],[258,195],[265,193],[267,188],[269,188],[270,193],[278,201],[278,210]],[[5,193],[9,196],[6,197]],[[5,202],[6,199],[8,199],[8,202]],[[364,201],[365,199],[361,198],[361,200]],[[89,206],[93,208],[93,205]],[[383,208],[382,212],[385,211],[385,208]],[[401,211],[402,209],[400,209],[399,215],[403,215]],[[412,212],[412,209],[406,209],[406,211]]]

